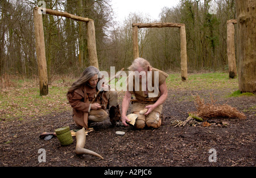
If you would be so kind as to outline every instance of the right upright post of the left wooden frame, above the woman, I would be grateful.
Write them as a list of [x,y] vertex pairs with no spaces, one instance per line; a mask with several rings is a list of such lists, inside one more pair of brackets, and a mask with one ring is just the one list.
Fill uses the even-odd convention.
[[88,37],[87,41],[88,41],[88,53],[89,53],[90,65],[93,65],[94,67],[98,68],[95,28],[94,28],[93,21],[87,22],[87,37]]

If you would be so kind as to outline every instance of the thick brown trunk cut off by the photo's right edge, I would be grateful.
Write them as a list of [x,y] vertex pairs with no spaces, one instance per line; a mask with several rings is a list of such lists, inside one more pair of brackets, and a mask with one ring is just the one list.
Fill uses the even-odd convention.
[[256,92],[256,0],[237,0],[238,85],[241,92]]

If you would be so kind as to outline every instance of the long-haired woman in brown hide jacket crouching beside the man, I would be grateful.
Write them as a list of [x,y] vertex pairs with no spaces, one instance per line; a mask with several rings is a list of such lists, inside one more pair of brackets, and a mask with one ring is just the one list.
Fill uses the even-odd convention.
[[73,120],[77,126],[88,128],[88,121],[101,122],[108,119],[106,109],[110,108],[110,122],[115,125],[120,117],[120,111],[117,101],[117,92],[110,91],[108,85],[101,86],[101,92],[91,101],[98,92],[98,81],[104,80],[98,78],[99,70],[90,66],[82,72],[80,78],[69,88],[67,98],[73,108]]

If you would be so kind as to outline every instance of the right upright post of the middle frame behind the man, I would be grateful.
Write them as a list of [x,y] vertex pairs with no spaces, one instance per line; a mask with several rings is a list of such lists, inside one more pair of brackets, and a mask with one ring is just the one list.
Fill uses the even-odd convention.
[[180,67],[181,67],[181,80],[187,81],[187,41],[185,26],[180,27]]

